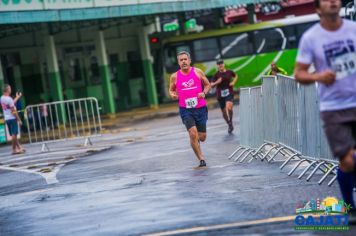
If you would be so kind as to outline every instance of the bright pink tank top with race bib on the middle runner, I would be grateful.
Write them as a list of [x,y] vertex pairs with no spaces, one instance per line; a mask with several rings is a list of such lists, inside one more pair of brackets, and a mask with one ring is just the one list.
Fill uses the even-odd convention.
[[181,70],[177,72],[176,88],[179,106],[184,108],[200,108],[206,106],[204,98],[198,98],[198,93],[203,92],[202,82],[191,67],[188,74]]

